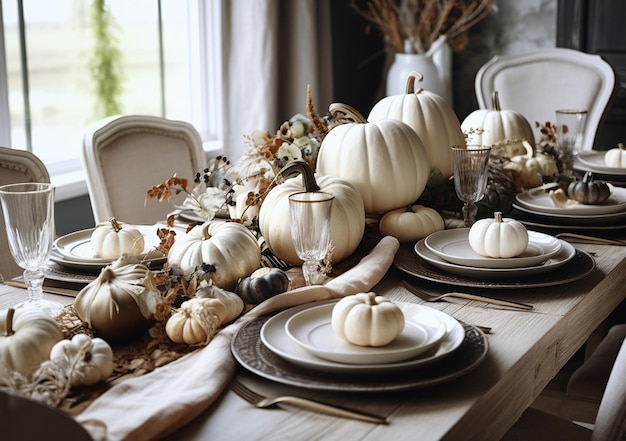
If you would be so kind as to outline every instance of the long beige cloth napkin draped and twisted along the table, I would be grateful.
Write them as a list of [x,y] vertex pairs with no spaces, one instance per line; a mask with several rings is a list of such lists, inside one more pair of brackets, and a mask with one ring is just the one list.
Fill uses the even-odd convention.
[[116,385],[76,417],[94,440],[151,440],[179,429],[215,401],[235,371],[230,342],[248,321],[307,302],[371,290],[393,262],[398,241],[384,237],[355,267],[323,286],[272,297],[220,331],[206,347]]

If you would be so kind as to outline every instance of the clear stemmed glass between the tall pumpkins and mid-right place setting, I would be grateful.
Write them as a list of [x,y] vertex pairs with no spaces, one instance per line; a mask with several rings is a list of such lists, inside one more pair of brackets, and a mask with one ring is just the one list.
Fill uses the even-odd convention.
[[476,202],[485,195],[490,152],[491,147],[488,146],[452,147],[454,189],[463,201],[463,221],[466,227],[474,224],[478,212]]

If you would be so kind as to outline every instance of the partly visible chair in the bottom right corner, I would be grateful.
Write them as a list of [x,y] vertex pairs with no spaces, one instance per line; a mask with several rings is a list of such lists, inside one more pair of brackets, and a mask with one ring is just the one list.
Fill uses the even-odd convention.
[[[593,357],[593,356],[592,356]],[[536,409],[526,410],[503,441],[619,441],[626,436],[626,340],[622,337],[593,429]]]

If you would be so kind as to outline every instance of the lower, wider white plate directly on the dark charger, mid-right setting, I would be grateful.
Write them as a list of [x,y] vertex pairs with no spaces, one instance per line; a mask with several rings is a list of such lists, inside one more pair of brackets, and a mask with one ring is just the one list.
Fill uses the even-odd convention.
[[424,243],[424,239],[415,244],[415,252],[422,259],[431,265],[449,273],[458,274],[465,277],[481,278],[481,279],[497,279],[502,277],[525,277],[537,274],[547,273],[555,270],[576,255],[576,248],[568,242],[557,239],[561,242],[561,249],[558,253],[546,260],[540,265],[526,266],[521,268],[480,268],[474,266],[464,266],[456,263],[448,262],[445,259],[433,253]]

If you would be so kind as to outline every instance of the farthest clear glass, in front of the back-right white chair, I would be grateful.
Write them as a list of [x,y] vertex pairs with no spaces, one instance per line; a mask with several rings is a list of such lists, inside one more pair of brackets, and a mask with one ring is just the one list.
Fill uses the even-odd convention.
[[580,153],[585,137],[587,111],[559,109],[556,111],[556,140],[559,145],[566,180],[574,179],[574,161]]

